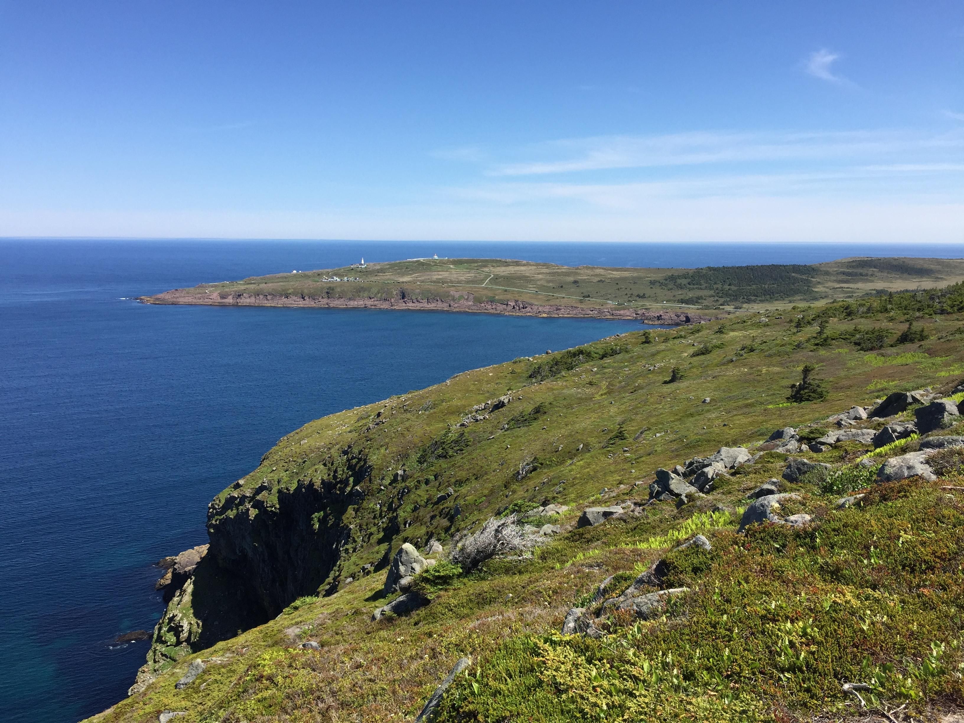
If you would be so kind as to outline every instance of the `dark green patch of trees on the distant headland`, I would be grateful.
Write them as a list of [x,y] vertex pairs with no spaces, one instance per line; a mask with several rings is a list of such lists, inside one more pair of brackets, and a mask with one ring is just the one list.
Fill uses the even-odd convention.
[[670,274],[653,285],[669,290],[705,291],[720,303],[816,300],[817,268],[804,264],[707,266]]

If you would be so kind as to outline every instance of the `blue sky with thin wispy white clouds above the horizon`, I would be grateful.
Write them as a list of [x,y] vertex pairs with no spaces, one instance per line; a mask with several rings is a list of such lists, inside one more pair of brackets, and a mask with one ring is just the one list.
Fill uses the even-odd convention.
[[964,5],[0,0],[0,235],[964,242]]

